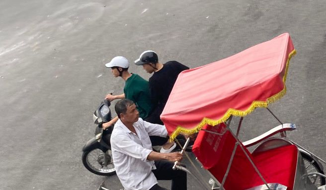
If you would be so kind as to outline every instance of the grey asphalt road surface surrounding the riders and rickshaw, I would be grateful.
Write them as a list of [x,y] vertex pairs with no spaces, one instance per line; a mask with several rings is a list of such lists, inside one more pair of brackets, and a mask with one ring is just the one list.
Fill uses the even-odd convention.
[[[325,0],[1,0],[0,190],[121,188],[81,163],[93,111],[108,92],[122,93],[104,67],[114,56],[132,62],[150,49],[194,68],[284,32],[297,55],[287,95],[270,108],[297,124],[291,139],[326,159],[325,18]],[[243,125],[247,140],[278,123],[257,109]]]

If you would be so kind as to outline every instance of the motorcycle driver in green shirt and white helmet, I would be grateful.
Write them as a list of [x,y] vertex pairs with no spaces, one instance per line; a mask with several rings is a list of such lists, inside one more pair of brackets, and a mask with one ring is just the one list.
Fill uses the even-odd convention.
[[[135,102],[139,116],[148,122],[153,123],[150,117],[150,111],[152,111],[151,94],[148,81],[143,79],[137,74],[129,73],[129,62],[125,57],[117,56],[114,57],[109,63],[105,64],[105,67],[111,68],[112,74],[115,78],[121,77],[126,83],[123,88],[124,94],[105,96],[105,99],[110,101],[114,99],[130,99]],[[118,116],[110,120],[109,122],[103,123],[103,129],[112,126],[118,121]],[[151,136],[153,146],[162,145],[161,151],[171,151],[175,147],[174,142],[170,142],[167,138]]]

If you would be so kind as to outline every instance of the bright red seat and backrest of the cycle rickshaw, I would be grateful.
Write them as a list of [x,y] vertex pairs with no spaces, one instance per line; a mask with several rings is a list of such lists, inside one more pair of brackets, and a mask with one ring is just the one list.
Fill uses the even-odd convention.
[[[222,184],[237,140],[224,123],[214,127],[206,125],[203,129],[217,133],[225,131],[223,135],[217,135],[201,130],[192,148],[203,167]],[[293,190],[298,161],[298,149],[295,145],[254,154],[250,154],[244,146],[243,151],[240,146],[243,145],[237,146],[224,183],[225,190],[246,190],[264,184],[244,151],[267,183],[278,183],[286,186],[287,190]]]

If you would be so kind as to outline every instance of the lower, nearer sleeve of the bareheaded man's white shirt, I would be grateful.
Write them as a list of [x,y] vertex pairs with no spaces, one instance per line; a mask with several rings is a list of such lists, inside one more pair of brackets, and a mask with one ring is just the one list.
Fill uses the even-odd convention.
[[152,150],[142,147],[123,134],[115,135],[112,140],[111,145],[114,146],[117,151],[136,159],[141,159],[143,162],[147,161],[148,155],[152,152]]

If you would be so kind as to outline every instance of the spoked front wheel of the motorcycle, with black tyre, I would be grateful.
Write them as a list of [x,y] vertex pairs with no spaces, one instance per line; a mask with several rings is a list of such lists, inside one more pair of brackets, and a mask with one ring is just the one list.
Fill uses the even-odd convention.
[[83,152],[82,164],[87,170],[96,175],[109,176],[115,173],[111,150],[104,153],[96,148]]

